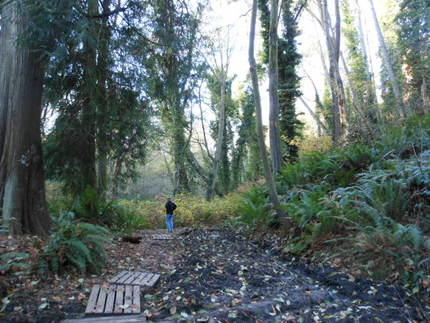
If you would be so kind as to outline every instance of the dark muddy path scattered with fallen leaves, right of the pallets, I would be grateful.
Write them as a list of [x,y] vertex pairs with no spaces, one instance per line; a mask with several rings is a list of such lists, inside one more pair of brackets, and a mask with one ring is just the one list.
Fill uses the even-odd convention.
[[151,320],[425,320],[420,305],[396,287],[285,261],[230,231],[194,230],[179,245],[171,275],[145,295]]

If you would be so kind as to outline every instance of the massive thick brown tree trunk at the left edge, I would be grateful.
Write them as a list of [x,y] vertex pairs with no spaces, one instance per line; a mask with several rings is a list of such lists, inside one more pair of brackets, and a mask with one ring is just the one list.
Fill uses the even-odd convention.
[[30,21],[23,1],[2,9],[0,32],[0,201],[4,224],[17,234],[47,235],[40,121],[42,53],[18,46]]

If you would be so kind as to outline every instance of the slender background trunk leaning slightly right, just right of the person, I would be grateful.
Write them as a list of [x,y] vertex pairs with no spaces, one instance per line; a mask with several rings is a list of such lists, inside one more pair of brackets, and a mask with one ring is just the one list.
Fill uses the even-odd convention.
[[215,191],[215,183],[218,174],[219,163],[221,160],[221,152],[222,152],[222,144],[224,141],[224,128],[225,128],[225,82],[226,75],[224,69],[221,68],[220,73],[220,103],[219,103],[219,111],[218,111],[218,136],[215,150],[215,159],[212,166],[212,172],[209,175],[209,185],[208,190],[206,192],[206,199],[208,201],[212,200],[214,191]]

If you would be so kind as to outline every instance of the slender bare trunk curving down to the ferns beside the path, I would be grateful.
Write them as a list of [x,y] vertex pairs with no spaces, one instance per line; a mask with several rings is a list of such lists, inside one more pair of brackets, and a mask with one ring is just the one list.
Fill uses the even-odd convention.
[[272,172],[270,171],[269,160],[267,159],[266,144],[264,143],[264,131],[263,131],[263,120],[261,115],[261,100],[260,90],[258,86],[257,68],[254,58],[254,41],[255,41],[255,23],[257,19],[257,0],[253,0],[252,5],[252,16],[251,16],[251,31],[249,35],[249,70],[251,73],[252,87],[255,98],[255,112],[257,117],[257,137],[258,146],[260,148],[261,159],[263,162],[264,177],[266,184],[269,189],[270,200],[273,207],[277,210],[278,215],[281,216],[283,211],[281,209],[281,203],[279,202],[278,193],[276,192],[275,182],[273,180]]

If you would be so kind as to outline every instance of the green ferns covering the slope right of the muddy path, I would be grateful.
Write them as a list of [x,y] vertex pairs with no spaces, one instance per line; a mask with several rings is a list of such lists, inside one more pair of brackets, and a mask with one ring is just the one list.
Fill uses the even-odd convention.
[[[430,291],[430,115],[383,133],[371,144],[308,150],[282,169],[277,188],[293,222],[283,251],[325,249],[371,277]],[[245,193],[236,227],[266,230],[267,205],[262,187]]]

